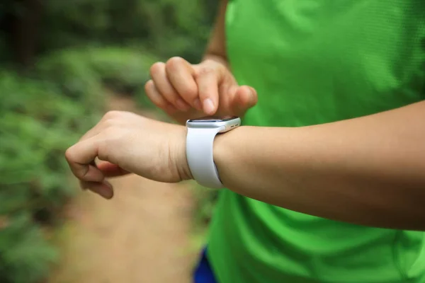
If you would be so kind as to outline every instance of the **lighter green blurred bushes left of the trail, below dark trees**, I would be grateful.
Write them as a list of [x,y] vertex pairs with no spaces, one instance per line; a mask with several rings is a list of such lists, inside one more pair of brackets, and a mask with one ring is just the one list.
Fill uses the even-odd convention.
[[86,47],[41,57],[26,77],[0,70],[0,282],[47,274],[55,248],[42,226],[60,224],[74,195],[64,150],[98,122],[105,86],[143,93],[156,60],[142,50]]

